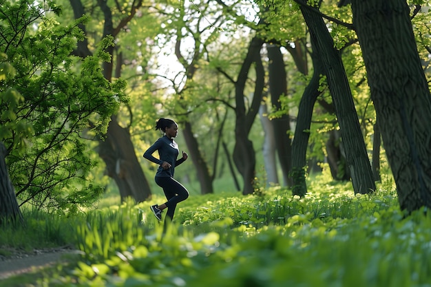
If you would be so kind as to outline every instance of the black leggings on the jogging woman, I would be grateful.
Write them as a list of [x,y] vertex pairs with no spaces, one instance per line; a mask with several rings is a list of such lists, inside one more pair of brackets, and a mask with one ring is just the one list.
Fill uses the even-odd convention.
[[189,191],[187,191],[180,182],[171,177],[156,176],[155,180],[156,184],[163,189],[167,198],[167,202],[165,202],[167,206],[166,218],[172,220],[174,218],[176,204],[187,200]]

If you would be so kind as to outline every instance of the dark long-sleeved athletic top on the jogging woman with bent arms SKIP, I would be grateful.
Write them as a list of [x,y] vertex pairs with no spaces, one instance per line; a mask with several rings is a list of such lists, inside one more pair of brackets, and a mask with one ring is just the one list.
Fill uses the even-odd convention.
[[[160,159],[153,156],[154,151],[158,151],[158,157]],[[147,151],[145,151],[144,158],[147,158],[147,160],[156,164],[160,164],[160,167],[157,169],[156,176],[174,177],[175,167],[185,161],[184,158],[177,160],[178,153],[180,153],[180,151],[178,150],[177,143],[173,139],[169,139],[167,136],[162,136],[156,140],[156,142],[154,142]],[[169,164],[171,164],[171,168],[163,169],[161,165],[163,162],[169,162]]]

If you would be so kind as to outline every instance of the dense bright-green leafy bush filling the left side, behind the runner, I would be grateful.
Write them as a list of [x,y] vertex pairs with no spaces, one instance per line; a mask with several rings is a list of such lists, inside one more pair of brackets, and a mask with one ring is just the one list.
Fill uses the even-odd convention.
[[125,81],[109,83],[101,70],[113,39],[106,37],[94,56],[80,60],[71,52],[83,39],[78,25],[85,17],[64,26],[45,16],[60,12],[55,5],[50,10],[18,1],[4,7],[0,140],[10,151],[6,161],[17,198],[49,211],[76,212],[102,191],[87,181],[96,161],[82,133],[105,133],[112,114],[127,103]]

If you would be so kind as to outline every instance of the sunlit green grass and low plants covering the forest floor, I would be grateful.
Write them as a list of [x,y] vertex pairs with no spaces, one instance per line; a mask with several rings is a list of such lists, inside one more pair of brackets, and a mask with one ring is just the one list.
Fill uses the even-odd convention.
[[431,286],[430,216],[405,217],[390,179],[372,195],[355,196],[350,184],[326,178],[310,178],[305,198],[277,187],[247,196],[192,194],[166,232],[149,213],[161,194],[72,218],[36,213],[40,218],[27,227],[45,226],[36,242],[44,235],[51,244],[70,238],[83,255],[39,273],[33,284]]

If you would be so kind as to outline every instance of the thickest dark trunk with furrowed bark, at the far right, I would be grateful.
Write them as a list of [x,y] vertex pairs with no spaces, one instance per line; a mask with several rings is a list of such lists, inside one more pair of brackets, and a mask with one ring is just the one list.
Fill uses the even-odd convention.
[[404,0],[353,0],[383,145],[408,212],[431,207],[431,95]]

